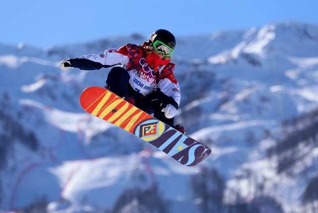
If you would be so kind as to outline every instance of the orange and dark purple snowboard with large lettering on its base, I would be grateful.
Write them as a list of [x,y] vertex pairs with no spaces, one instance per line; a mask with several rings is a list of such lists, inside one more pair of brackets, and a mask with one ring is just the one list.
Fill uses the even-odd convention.
[[[88,87],[80,95],[82,108],[156,146],[186,166],[203,161],[211,149],[173,129],[102,87]],[[120,148],[120,147],[119,147]]]

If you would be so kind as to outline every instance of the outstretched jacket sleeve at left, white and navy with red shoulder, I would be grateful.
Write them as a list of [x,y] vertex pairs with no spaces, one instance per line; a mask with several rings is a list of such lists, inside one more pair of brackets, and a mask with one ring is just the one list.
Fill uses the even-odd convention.
[[76,59],[70,59],[71,66],[80,70],[99,70],[115,65],[126,65],[128,63],[125,46],[118,49],[107,49],[103,54],[86,55]]

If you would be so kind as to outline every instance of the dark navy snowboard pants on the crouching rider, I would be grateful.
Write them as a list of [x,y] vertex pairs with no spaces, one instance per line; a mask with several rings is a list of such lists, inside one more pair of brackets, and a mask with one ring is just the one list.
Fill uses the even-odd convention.
[[148,114],[154,114],[155,118],[173,127],[174,118],[168,119],[164,116],[164,113],[161,112],[162,108],[166,106],[166,100],[168,100],[169,97],[164,95],[161,91],[143,96],[131,87],[129,79],[128,71],[121,67],[114,67],[108,73],[105,88],[114,92],[119,97],[133,97],[136,101],[136,107]]

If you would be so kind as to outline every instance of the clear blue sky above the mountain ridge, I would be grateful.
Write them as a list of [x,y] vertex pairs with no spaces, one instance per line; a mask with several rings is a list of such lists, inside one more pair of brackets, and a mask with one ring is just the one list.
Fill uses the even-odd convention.
[[318,24],[318,0],[4,0],[0,43],[49,48],[159,28],[178,35],[268,23]]

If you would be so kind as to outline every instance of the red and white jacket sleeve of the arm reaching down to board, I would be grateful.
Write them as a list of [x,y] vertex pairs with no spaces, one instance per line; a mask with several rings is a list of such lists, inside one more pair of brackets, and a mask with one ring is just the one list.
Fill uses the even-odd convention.
[[[168,67],[169,68],[169,67]],[[159,80],[158,86],[160,92],[166,97],[166,104],[172,104],[178,109],[180,104],[180,86],[173,74],[174,65],[167,69],[167,73]]]

